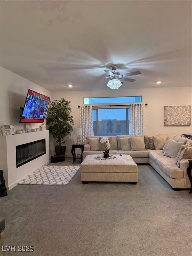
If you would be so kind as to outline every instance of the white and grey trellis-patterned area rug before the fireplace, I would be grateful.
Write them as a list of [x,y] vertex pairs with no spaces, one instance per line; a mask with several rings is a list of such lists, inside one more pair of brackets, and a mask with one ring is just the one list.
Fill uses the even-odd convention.
[[47,165],[26,176],[18,184],[67,185],[79,170],[80,165]]

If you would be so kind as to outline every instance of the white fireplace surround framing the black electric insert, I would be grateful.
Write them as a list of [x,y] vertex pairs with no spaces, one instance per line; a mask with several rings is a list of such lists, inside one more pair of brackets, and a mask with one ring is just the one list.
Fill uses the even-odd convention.
[[[16,146],[45,139],[46,154],[16,168]],[[6,187],[10,190],[23,177],[49,163],[49,131],[38,131],[0,136],[1,169],[4,172]]]

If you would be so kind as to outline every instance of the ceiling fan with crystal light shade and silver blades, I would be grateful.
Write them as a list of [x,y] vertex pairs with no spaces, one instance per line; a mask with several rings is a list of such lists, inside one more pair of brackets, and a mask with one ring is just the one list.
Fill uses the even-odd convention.
[[[110,87],[110,85],[113,84],[112,87],[117,87],[117,88],[111,88],[111,89],[118,89],[122,83],[121,81],[126,81],[126,82],[134,82],[135,79],[132,78],[126,78],[126,76],[135,76],[135,75],[139,75],[141,74],[140,71],[134,71],[134,72],[129,72],[129,73],[125,73],[125,74],[120,74],[119,72],[115,72],[115,70],[117,69],[117,66],[111,66],[111,69],[113,70],[107,70],[104,69],[103,71],[105,71],[108,74],[108,77],[87,77],[87,78],[106,78],[109,79],[109,81],[107,81],[105,84],[107,84],[108,87]],[[116,85],[116,86],[114,86]]]

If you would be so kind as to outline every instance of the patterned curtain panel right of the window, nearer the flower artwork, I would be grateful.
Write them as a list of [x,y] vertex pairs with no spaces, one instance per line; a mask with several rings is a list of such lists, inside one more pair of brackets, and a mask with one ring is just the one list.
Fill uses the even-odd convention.
[[145,104],[131,104],[130,106],[130,135],[145,134]]

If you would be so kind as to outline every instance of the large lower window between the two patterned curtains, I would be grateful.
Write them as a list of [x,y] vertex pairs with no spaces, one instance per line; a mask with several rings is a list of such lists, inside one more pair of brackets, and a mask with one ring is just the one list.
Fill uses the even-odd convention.
[[129,108],[93,109],[94,135],[129,134]]

